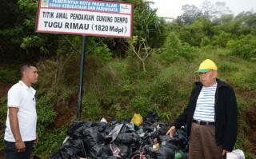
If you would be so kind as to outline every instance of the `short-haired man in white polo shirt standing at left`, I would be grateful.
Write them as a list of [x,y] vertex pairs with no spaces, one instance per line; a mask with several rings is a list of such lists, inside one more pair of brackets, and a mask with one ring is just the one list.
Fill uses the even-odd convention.
[[21,81],[13,85],[7,95],[6,159],[30,159],[32,146],[38,143],[35,90],[31,87],[38,81],[38,70],[33,65],[24,65],[20,74]]

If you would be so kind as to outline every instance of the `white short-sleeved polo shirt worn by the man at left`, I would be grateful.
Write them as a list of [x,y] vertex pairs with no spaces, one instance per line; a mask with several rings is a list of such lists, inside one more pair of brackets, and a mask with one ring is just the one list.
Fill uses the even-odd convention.
[[[28,87],[22,81],[18,81],[8,91],[7,106],[18,108],[18,124],[22,141],[33,141],[36,139],[37,112],[34,94],[35,90],[31,86]],[[9,109],[7,111],[4,139],[15,142],[14,135],[10,129]]]

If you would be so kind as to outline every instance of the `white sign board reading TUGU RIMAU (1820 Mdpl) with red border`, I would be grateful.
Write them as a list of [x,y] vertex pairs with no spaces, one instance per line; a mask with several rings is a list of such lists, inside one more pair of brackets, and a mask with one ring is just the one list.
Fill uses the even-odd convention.
[[96,0],[39,0],[36,32],[131,38],[133,6]]

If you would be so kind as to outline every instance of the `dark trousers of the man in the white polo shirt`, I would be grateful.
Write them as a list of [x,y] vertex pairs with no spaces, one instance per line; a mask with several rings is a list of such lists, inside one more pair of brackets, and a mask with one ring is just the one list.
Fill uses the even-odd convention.
[[26,150],[18,153],[15,142],[5,141],[5,158],[6,159],[30,159],[34,141],[25,141]]

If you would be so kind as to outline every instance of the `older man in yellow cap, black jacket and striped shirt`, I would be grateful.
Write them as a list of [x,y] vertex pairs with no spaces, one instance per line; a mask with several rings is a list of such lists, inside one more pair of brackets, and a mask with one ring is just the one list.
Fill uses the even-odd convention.
[[237,138],[237,102],[234,90],[217,78],[217,66],[210,59],[196,71],[200,81],[183,113],[167,134],[187,125],[190,159],[219,159],[232,151]]

